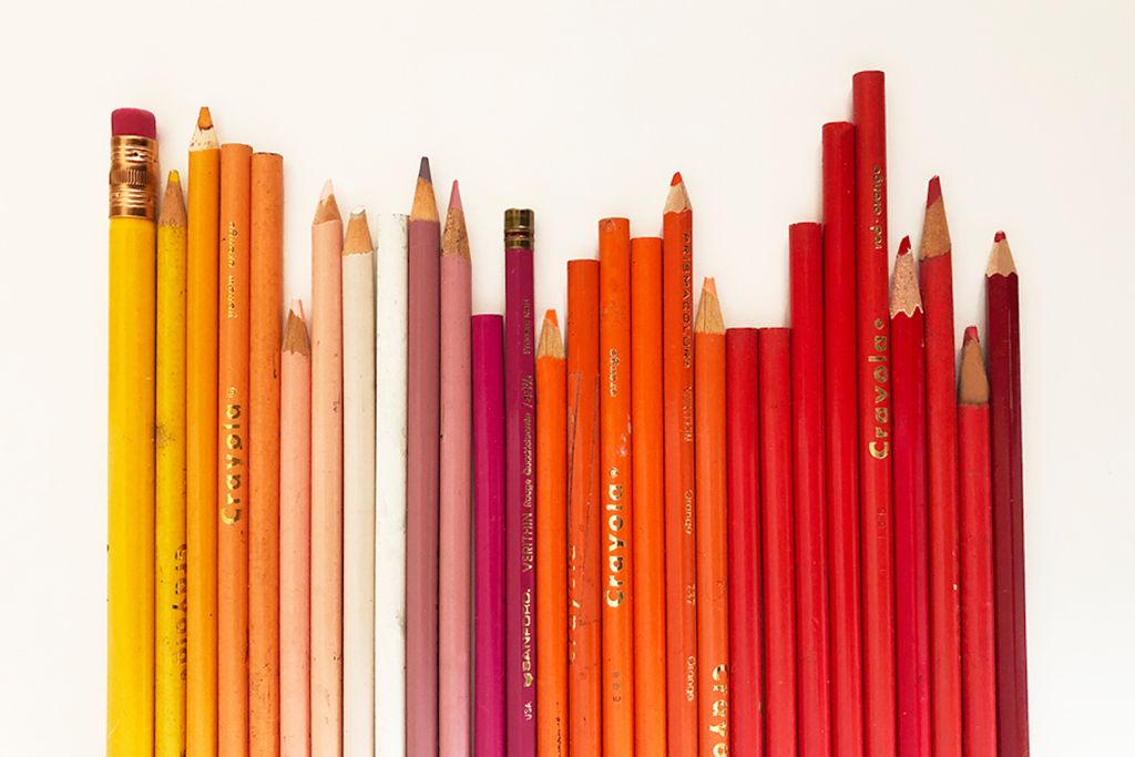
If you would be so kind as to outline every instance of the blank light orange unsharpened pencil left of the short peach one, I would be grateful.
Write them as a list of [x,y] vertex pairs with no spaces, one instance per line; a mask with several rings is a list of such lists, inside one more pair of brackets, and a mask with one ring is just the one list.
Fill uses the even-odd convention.
[[249,326],[249,754],[280,742],[280,302],[284,297],[284,159],[252,155],[252,294]]

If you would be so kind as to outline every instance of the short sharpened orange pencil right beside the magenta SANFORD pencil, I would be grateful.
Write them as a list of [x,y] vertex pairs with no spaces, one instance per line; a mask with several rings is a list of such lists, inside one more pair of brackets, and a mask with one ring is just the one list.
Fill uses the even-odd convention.
[[568,754],[568,364],[556,311],[536,345],[536,750]]

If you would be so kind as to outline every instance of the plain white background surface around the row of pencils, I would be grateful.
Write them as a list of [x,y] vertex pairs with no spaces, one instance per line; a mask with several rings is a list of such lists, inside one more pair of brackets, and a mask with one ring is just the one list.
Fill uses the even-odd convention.
[[875,67],[888,74],[891,249],[919,232],[939,173],[959,337],[981,319],[994,230],[1020,269],[1033,755],[1132,754],[1129,3],[11,5],[0,754],[103,745],[112,108],[157,113],[166,169],[185,168],[201,104],[222,140],[285,155],[287,295],[308,296],[327,177],[344,211],[372,212],[409,210],[421,154],[443,208],[460,178],[474,308],[496,311],[504,208],[536,209],[538,304],[562,308],[564,262],[594,254],[597,219],[657,234],[681,169],[698,278],[717,276],[729,325],[775,325],[788,224],[818,219],[821,125],[850,116],[851,74]]

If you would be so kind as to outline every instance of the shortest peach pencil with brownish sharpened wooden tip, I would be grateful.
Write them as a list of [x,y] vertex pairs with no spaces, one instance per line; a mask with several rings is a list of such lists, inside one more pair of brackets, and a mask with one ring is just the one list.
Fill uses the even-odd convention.
[[311,342],[295,300],[280,355],[280,756],[311,738]]

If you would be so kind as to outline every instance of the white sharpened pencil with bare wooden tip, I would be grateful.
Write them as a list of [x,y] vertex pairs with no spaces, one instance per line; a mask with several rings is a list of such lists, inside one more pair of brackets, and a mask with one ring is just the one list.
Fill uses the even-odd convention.
[[[375,244],[343,239],[343,750],[375,754]],[[387,580],[387,577],[381,577]]]

